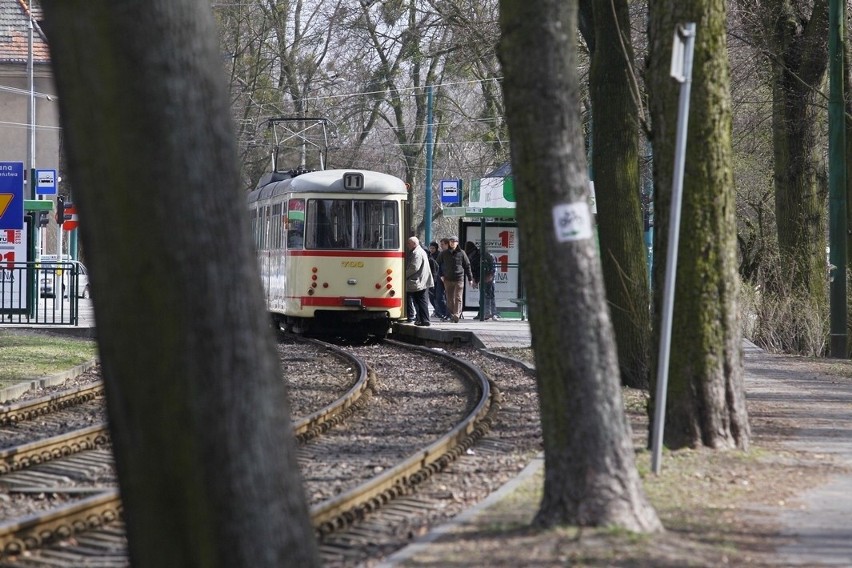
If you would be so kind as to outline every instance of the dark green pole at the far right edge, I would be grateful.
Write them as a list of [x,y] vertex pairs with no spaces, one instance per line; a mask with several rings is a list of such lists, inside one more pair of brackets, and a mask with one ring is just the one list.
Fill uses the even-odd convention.
[[831,357],[845,359],[846,337],[846,117],[843,103],[843,45],[846,0],[828,7],[828,194],[831,245]]

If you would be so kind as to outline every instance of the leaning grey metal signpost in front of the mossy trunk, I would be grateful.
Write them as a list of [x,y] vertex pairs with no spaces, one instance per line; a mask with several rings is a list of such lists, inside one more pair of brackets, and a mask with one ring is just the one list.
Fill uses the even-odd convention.
[[686,154],[686,127],[689,119],[689,92],[692,87],[692,51],[695,47],[695,24],[678,25],[672,47],[671,76],[679,82],[677,139],[675,165],[672,179],[671,216],[669,218],[669,245],[666,253],[666,279],[663,287],[663,319],[660,329],[660,351],[657,361],[657,396],[654,399],[654,428],[651,442],[651,469],[660,473],[663,451],[663,430],[666,423],[666,389],[668,387],[669,352],[672,337],[672,311],[674,284],[677,269],[678,233],[680,230],[680,204],[683,195],[683,170]]

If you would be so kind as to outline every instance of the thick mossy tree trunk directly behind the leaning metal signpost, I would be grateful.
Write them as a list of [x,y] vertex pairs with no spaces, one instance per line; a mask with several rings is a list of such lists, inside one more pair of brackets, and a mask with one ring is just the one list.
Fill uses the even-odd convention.
[[[666,258],[668,245],[680,92],[669,76],[672,37],[676,23],[697,23],[664,433],[670,448],[746,448],[750,438],[738,317],[725,16],[724,0],[674,8],[661,0],[650,4],[658,259]],[[665,262],[655,263],[655,269],[659,336]]]

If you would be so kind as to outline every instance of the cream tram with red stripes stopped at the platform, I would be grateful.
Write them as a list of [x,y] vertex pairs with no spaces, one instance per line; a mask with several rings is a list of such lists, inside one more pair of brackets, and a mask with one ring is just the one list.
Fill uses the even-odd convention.
[[401,179],[369,170],[267,174],[248,208],[275,324],[384,337],[404,316],[407,196]]

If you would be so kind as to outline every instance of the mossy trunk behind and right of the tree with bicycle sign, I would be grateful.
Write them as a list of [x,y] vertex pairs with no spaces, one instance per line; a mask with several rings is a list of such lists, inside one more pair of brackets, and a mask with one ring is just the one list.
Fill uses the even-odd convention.
[[[606,298],[623,384],[647,389],[650,291],[639,177],[639,99],[627,0],[594,0],[592,179]],[[588,44],[588,42],[587,42]]]

